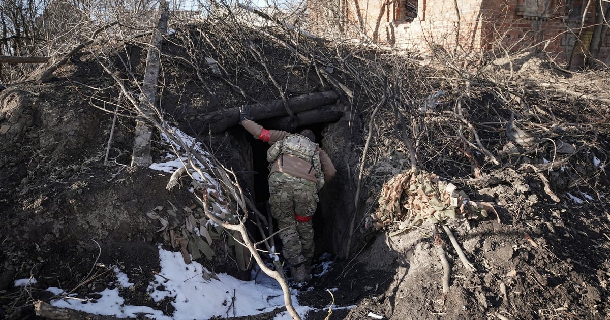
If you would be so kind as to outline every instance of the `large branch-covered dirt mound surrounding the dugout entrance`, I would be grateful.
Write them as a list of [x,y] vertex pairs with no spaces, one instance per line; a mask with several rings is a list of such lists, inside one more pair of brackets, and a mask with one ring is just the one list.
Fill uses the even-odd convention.
[[[313,126],[337,176],[320,196],[314,280],[300,294],[301,305],[326,310],[308,319],[325,319],[331,301],[333,319],[369,313],[387,319],[608,317],[607,97],[587,92],[583,98],[571,94],[583,87],[545,86],[526,77],[534,68],[549,84],[569,82],[538,60],[520,62],[517,78],[503,65],[456,76],[450,68],[424,68],[392,52],[318,39],[299,38],[297,52],[303,54],[295,54],[287,46],[297,48],[290,32],[270,37],[209,23],[177,29],[163,48],[159,104],[167,118],[236,172],[264,211],[266,146],[239,127],[212,133],[203,115],[246,102],[329,89],[341,93],[337,105],[344,116]],[[242,37],[250,45],[221,45]],[[268,55],[248,51],[252,45]],[[129,63],[117,63],[113,72],[141,79],[144,46],[122,48],[110,56],[113,62],[129,57]],[[157,306],[146,286],[158,268],[155,246],[164,240],[146,212],[196,204],[190,185],[168,191],[170,174],[128,166],[133,110],[112,104],[121,94],[95,52],[77,55],[46,84],[0,92],[0,314],[9,319],[35,318],[32,302],[48,300],[44,289],[58,282],[81,294],[99,290],[112,274],[98,263],[133,271],[137,285],[125,293],[127,303]],[[206,57],[223,66],[221,75]],[[486,73],[497,74],[492,79]],[[136,90],[135,82],[131,86]],[[431,101],[440,90],[445,94]],[[113,129],[114,110],[121,117]],[[536,135],[537,144],[511,141],[509,122]],[[561,148],[563,143],[572,148]],[[382,185],[409,169],[409,149],[416,151],[414,165],[454,183],[473,201],[492,203],[501,221],[448,220],[475,270],[465,268],[441,230],[452,267],[444,295],[431,226],[396,232],[399,221],[386,231],[366,223]],[[155,137],[156,160],[170,151]],[[224,252],[220,245],[214,249]],[[218,256],[200,260],[213,271],[247,276],[231,263],[231,254]],[[324,263],[331,261],[326,270]],[[34,288],[13,287],[13,280],[30,276],[38,280]]]

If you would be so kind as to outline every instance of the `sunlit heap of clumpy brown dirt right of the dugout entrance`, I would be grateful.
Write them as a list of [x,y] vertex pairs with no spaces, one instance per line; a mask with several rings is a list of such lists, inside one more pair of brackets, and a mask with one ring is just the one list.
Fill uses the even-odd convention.
[[[561,202],[554,202],[536,180],[536,175],[512,170],[492,171],[484,180],[486,188],[471,199],[492,201],[501,222],[447,220],[476,271],[462,265],[440,230],[452,266],[446,296],[432,225],[378,235],[344,267],[343,277],[357,282],[376,272],[396,272],[389,280],[373,276],[368,286],[375,293],[365,294],[345,319],[369,312],[387,319],[604,318],[610,307],[609,260],[602,253],[610,241],[600,228],[610,218],[606,197],[578,204],[562,195]],[[479,182],[472,180],[472,185]]]

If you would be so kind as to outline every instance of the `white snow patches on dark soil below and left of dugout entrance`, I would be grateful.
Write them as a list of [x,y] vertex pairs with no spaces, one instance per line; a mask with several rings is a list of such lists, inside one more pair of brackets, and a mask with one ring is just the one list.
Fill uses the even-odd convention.
[[[199,152],[203,158],[208,158],[207,152],[201,148],[195,138],[189,137],[184,132],[176,128],[174,130],[176,137],[179,137],[185,144]],[[163,140],[169,140],[165,135],[162,135]],[[170,148],[171,149],[171,148]],[[182,158],[185,158],[184,155]],[[175,154],[168,153],[167,158],[163,162],[153,163],[150,168],[165,172],[174,172],[181,166],[181,162]],[[202,168],[204,168],[202,166]],[[217,185],[215,179],[204,172],[205,177],[198,174],[193,174],[197,180],[211,182],[212,185]],[[220,190],[220,188],[218,188]],[[144,214],[144,213],[143,213]],[[151,221],[154,223],[155,221]],[[101,297],[83,298],[76,297],[75,294],[65,296],[65,288],[51,287],[46,290],[56,294],[59,298],[52,299],[51,305],[60,308],[70,308],[73,310],[85,311],[95,315],[108,315],[117,318],[137,318],[142,313],[149,319],[158,320],[192,320],[192,319],[209,319],[212,316],[234,317],[258,315],[268,311],[273,311],[275,308],[284,306],[284,296],[279,284],[264,274],[259,272],[259,268],[254,266],[251,271],[251,280],[243,281],[235,279],[228,274],[217,274],[218,279],[206,280],[203,277],[204,270],[210,273],[209,270],[197,261],[192,261],[186,265],[180,252],[171,252],[158,248],[160,258],[160,271],[154,276],[154,281],[149,283],[148,292],[155,302],[163,300],[165,297],[173,298],[171,304],[175,308],[173,315],[165,316],[163,311],[165,305],[160,305],[158,308],[151,308],[142,305],[127,305],[121,290],[129,290],[133,283],[129,281],[129,274],[124,273],[118,267],[112,267],[116,280],[113,283],[114,289],[106,288],[103,291],[91,291],[90,294],[97,293]],[[326,256],[320,264],[323,271],[315,276],[321,276],[328,272],[332,262],[330,257]],[[104,261],[101,261],[104,262]],[[36,279],[19,279],[15,281],[15,286],[29,286],[36,283]],[[336,288],[329,288],[335,291]],[[307,311],[315,310],[312,307],[301,305],[298,301],[298,288],[292,289],[292,301],[295,310],[303,317]],[[63,297],[65,296],[65,297]],[[97,295],[96,295],[97,296]],[[231,302],[234,304],[231,305]],[[332,299],[329,296],[329,305],[325,310],[331,307]],[[351,308],[353,306],[332,306],[332,310],[339,308]],[[373,317],[374,318],[374,317]],[[291,319],[287,311],[280,313],[274,319]]]

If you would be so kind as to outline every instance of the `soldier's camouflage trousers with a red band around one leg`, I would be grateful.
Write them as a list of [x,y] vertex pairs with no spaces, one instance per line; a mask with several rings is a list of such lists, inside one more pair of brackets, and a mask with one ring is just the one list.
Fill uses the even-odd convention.
[[[314,258],[314,229],[311,216],[318,205],[317,183],[273,172],[269,177],[271,215],[278,223],[282,254],[291,266],[310,263]],[[297,221],[300,216],[301,221]],[[304,219],[303,219],[304,218]]]

